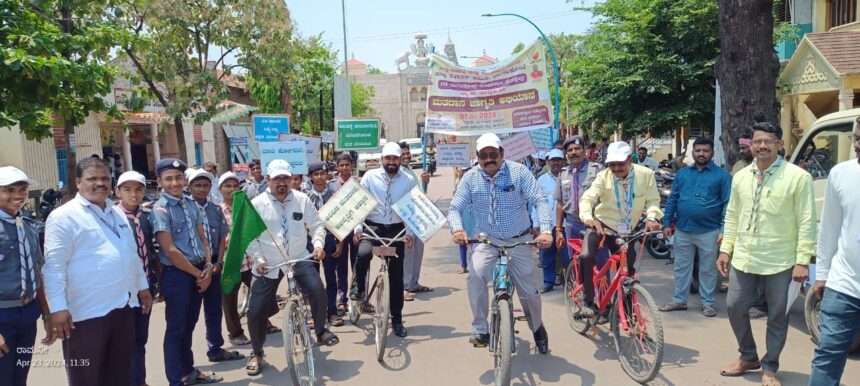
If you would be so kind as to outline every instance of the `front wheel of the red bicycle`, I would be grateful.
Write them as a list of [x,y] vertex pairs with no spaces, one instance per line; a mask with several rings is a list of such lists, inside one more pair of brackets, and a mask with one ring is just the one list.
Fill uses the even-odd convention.
[[[654,298],[641,284],[634,283],[623,293],[610,314],[618,361],[630,378],[645,384],[657,376],[663,363],[663,321]],[[624,325],[619,303],[624,307]]]

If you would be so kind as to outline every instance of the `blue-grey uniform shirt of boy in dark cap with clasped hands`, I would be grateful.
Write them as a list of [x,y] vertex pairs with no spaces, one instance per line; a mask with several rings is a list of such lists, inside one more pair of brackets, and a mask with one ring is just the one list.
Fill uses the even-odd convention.
[[[190,210],[184,210],[185,207]],[[203,217],[194,200],[187,197],[176,198],[162,192],[161,197],[152,206],[151,219],[155,234],[169,232],[173,238],[173,244],[188,261],[204,257],[203,242],[197,234],[197,225],[203,224]],[[197,245],[196,250],[192,247],[192,237],[194,245]],[[158,255],[162,264],[173,265],[165,254],[165,248],[160,248]]]

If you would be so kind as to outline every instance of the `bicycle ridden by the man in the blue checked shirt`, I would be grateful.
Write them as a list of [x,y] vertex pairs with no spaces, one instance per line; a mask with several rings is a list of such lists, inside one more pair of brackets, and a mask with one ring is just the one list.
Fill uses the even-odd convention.
[[490,306],[490,352],[493,354],[495,366],[494,378],[497,386],[511,383],[511,357],[516,352],[514,339],[514,311],[511,301],[514,296],[514,286],[508,275],[508,260],[512,257],[509,250],[520,246],[535,246],[534,241],[518,242],[511,245],[496,245],[490,241],[486,233],[479,233],[478,239],[466,241],[469,244],[484,244],[499,251],[496,265],[493,267],[493,303]]

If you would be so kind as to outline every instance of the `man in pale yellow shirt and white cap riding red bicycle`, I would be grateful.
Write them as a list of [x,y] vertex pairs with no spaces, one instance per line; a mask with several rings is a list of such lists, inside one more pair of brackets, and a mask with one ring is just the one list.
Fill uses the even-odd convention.
[[[606,235],[605,247],[616,253],[621,245],[618,238],[633,233],[639,224],[642,213],[646,214],[645,231],[661,229],[658,220],[663,217],[660,210],[660,195],[657,181],[651,169],[634,165],[630,157],[630,145],[626,142],[613,142],[606,154],[607,169],[600,172],[591,187],[579,201],[579,217],[589,228],[580,256],[583,272],[582,283],[585,288],[583,310],[586,317],[592,316],[597,306],[594,304],[594,282],[591,272],[594,269],[597,249],[604,236],[604,227],[615,231]],[[627,270],[635,273],[636,251],[627,252]]]

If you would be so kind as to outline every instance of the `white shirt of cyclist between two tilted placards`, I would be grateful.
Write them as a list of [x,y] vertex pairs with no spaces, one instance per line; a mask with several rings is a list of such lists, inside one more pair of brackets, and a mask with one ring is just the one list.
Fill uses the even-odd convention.
[[379,201],[379,205],[370,212],[367,220],[386,225],[403,222],[392,205],[409,194],[409,191],[417,185],[418,181],[404,173],[402,169],[398,169],[393,178],[388,177],[384,167],[364,173],[364,177],[361,178],[361,186],[370,191]]

